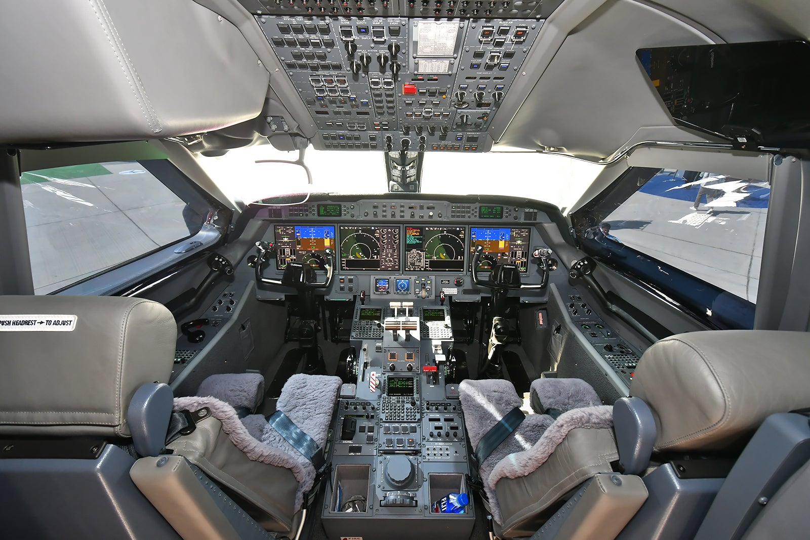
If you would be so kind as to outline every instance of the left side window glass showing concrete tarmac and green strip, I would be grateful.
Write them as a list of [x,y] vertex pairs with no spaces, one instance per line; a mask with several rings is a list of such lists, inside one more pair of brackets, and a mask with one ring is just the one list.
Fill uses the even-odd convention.
[[207,213],[134,161],[28,171],[20,182],[38,295],[194,235]]

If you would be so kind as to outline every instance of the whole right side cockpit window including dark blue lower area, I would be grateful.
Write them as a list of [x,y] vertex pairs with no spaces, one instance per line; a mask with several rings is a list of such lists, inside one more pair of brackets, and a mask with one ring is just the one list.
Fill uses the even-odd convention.
[[718,328],[751,328],[770,185],[723,171],[631,168],[575,215],[583,247]]

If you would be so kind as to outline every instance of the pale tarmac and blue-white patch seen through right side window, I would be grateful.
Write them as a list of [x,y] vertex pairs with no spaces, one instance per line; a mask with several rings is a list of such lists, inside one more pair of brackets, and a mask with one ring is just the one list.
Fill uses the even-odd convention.
[[605,241],[756,303],[769,198],[766,181],[661,169],[599,228]]

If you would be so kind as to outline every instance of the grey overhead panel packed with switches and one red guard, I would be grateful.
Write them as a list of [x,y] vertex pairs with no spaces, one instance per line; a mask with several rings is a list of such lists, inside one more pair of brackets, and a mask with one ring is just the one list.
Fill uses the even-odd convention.
[[[517,18],[389,16],[399,7],[372,0],[303,1],[274,0],[268,11],[287,15],[256,19],[318,125],[319,149],[488,151],[492,116],[542,26]],[[453,10],[482,2],[431,3]],[[532,2],[483,3],[509,7],[513,17],[535,9]],[[363,16],[309,15],[309,8],[331,14],[333,7]],[[308,15],[293,15],[302,9]]]

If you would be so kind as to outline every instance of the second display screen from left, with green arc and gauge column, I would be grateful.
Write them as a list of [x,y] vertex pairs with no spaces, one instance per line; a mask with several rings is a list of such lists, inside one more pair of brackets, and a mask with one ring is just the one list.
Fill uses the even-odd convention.
[[399,226],[340,226],[340,269],[399,271]]

